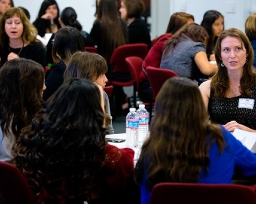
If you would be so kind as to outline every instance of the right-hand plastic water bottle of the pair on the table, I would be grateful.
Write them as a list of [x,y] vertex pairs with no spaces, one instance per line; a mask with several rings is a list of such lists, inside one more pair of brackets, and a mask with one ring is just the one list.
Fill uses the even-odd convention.
[[144,104],[139,105],[139,109],[137,110],[137,115],[139,117],[139,138],[138,138],[138,146],[141,147],[144,140],[148,134],[148,112],[145,109]]

